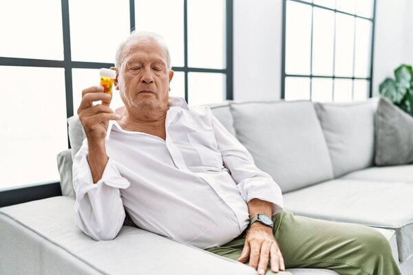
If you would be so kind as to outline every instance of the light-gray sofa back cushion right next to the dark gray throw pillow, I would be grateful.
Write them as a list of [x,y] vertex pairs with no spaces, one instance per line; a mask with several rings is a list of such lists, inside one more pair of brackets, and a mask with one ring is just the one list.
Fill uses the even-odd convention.
[[377,98],[372,98],[363,102],[314,104],[334,177],[373,165],[377,102]]

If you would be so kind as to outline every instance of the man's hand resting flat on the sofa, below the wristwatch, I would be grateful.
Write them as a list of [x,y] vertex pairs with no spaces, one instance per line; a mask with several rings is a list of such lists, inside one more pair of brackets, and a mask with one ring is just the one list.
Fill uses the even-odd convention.
[[244,249],[237,261],[246,263],[248,259],[249,265],[260,275],[266,273],[268,262],[271,263],[273,272],[285,270],[284,259],[272,228],[257,222],[251,225],[246,233]]

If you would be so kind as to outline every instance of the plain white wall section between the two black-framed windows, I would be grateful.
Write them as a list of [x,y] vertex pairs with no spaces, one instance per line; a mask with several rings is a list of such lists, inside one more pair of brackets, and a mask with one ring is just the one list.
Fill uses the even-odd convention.
[[282,2],[234,1],[235,100],[280,98]]

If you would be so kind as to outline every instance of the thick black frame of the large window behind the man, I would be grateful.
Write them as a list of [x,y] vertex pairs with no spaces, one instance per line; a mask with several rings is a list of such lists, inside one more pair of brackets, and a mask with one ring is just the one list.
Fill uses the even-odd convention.
[[[184,72],[184,95],[188,101],[188,74],[190,72],[219,73],[226,76],[226,100],[233,100],[233,0],[224,0],[226,7],[226,66],[225,69],[209,69],[201,67],[188,67],[188,11],[187,1],[184,1],[184,66],[172,67],[175,72]],[[14,58],[0,56],[0,66],[22,66],[22,67],[52,67],[63,68],[65,71],[65,100],[66,117],[74,115],[72,69],[100,69],[102,67],[112,67],[113,63],[98,63],[87,61],[72,61],[70,44],[70,14],[69,0],[61,0],[62,27],[63,27],[63,61],[35,59],[35,58]],[[135,0],[129,0],[130,30],[135,30]],[[190,103],[190,102],[189,102]],[[68,132],[68,131],[67,131]],[[67,144],[70,146],[69,135],[67,133]],[[59,152],[57,152],[59,153]],[[25,184],[1,188],[0,207],[10,206],[16,203],[43,199],[61,195],[60,182],[47,181],[41,183]]]

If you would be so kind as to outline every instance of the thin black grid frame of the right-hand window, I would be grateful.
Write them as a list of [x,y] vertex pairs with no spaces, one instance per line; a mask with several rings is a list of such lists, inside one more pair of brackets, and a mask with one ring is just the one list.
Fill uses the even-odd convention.
[[[311,42],[310,42],[310,74],[286,74],[286,3],[287,1],[292,1],[292,2],[297,2],[305,5],[310,5],[312,7],[311,9]],[[357,0],[360,1],[360,0]],[[334,87],[334,80],[335,79],[350,79],[352,80],[352,99],[354,99],[354,80],[368,80],[370,81],[370,87],[368,91],[368,97],[372,97],[372,88],[373,88],[373,65],[374,65],[374,28],[375,28],[375,23],[376,23],[376,4],[377,0],[372,0],[373,1],[373,11],[372,11],[372,18],[367,18],[367,17],[361,17],[357,14],[351,14],[348,12],[343,12],[341,10],[337,10],[336,8],[328,8],[325,7],[324,5],[317,5],[313,3],[313,1],[306,2],[306,1],[301,1],[301,0],[283,0],[283,8],[282,8],[282,78],[281,78],[281,98],[285,99],[286,96],[286,91],[285,91],[285,80],[287,77],[304,77],[304,78],[310,78],[310,100],[312,100],[313,96],[313,85],[312,81],[313,78],[329,78],[332,79],[332,98],[334,102],[334,93],[335,93],[335,87]],[[334,41],[334,49],[333,49],[333,72],[332,76],[322,76],[322,75],[314,75],[313,74],[313,23],[314,23],[314,8],[322,8],[324,10],[330,10],[332,12],[340,13],[340,14],[346,14],[350,15],[351,17],[354,17],[354,19],[360,18],[360,19],[366,19],[368,21],[372,22],[372,36],[371,36],[371,41],[370,41],[370,77],[368,78],[361,78],[361,77],[355,77],[354,76],[354,58],[355,58],[355,51],[353,51],[353,72],[352,76],[335,76],[335,41]],[[336,15],[335,15],[336,17]],[[353,49],[355,47],[355,30],[354,30],[354,45]],[[336,37],[336,30],[334,30],[334,38]]]

